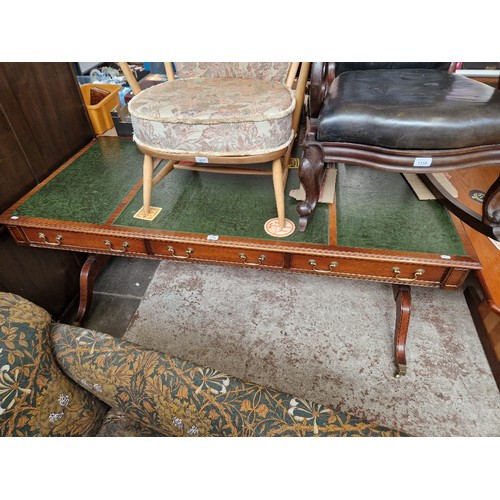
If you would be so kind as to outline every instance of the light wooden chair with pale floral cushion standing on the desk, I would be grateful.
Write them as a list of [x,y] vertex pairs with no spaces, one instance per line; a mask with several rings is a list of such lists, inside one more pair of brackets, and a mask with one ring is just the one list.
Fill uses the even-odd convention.
[[[295,91],[285,83],[290,64],[278,63],[279,71],[267,78],[262,68],[226,64],[226,70],[214,65],[201,73],[181,66],[190,77],[142,90],[129,102],[134,140],[145,155],[144,206],[136,217],[156,217],[161,208],[151,207],[153,185],[179,162],[182,168],[191,162],[196,170],[272,174],[279,226],[285,226],[284,189],[296,133]],[[169,161],[153,179],[155,158]],[[268,162],[271,170],[262,167]]]

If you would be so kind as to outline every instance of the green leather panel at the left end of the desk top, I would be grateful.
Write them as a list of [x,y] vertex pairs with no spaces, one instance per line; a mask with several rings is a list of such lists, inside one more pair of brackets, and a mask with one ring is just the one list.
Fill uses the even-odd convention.
[[131,140],[100,138],[13,215],[104,224],[142,177]]

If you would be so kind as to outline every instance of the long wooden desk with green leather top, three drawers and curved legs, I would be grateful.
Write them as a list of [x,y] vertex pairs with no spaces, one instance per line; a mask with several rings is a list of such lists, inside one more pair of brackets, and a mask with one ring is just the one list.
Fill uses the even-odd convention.
[[[89,253],[76,323],[111,255],[177,259],[393,284],[395,361],[406,373],[411,286],[457,290],[481,266],[462,223],[437,201],[419,201],[399,174],[341,166],[333,204],[307,231],[272,238],[272,182],[264,176],[176,170],[159,183],[154,221],[142,205],[142,156],[123,137],[99,137],[0,216],[17,244]],[[299,186],[292,170],[287,184]],[[287,216],[296,216],[289,198]],[[294,220],[297,225],[296,220]]]

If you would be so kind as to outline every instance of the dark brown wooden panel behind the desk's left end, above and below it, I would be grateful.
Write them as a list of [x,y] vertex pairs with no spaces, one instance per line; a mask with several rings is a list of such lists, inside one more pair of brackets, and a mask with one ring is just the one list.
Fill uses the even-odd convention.
[[[94,137],[72,63],[0,63],[0,210]],[[18,247],[0,227],[0,290],[61,318],[78,298],[86,255]]]

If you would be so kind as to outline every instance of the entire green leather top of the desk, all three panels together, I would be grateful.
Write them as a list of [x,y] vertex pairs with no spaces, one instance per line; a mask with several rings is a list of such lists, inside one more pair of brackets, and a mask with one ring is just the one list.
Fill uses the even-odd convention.
[[[439,202],[418,200],[399,174],[352,166],[338,171],[336,228],[329,226],[333,207],[319,204],[304,233],[272,238],[264,231],[264,223],[276,217],[270,176],[185,170],[174,170],[153,188],[152,205],[162,207],[155,220],[135,219],[142,206],[142,158],[131,140],[100,137],[12,215],[327,246],[333,229],[341,247],[466,255]],[[288,193],[297,187],[297,171],[292,169],[286,214],[296,226],[297,201]]]

